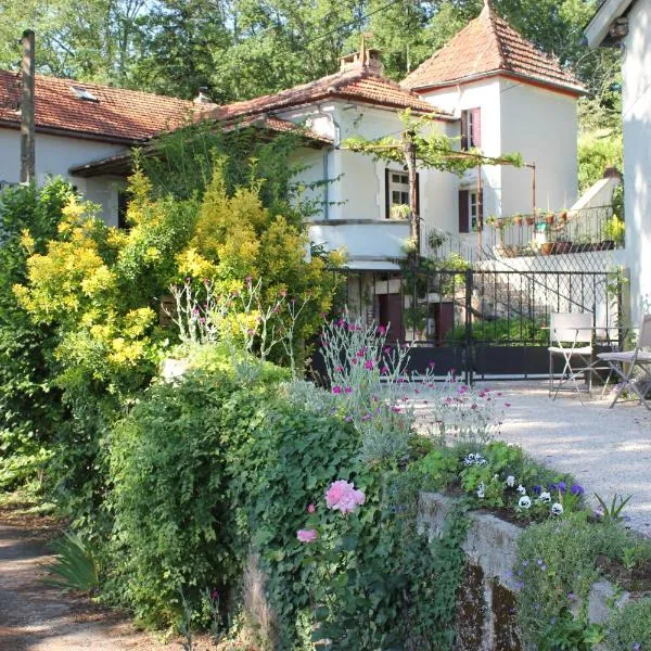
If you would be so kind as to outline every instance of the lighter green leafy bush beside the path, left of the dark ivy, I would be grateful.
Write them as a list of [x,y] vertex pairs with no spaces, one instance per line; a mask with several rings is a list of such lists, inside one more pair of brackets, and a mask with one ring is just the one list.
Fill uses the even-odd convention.
[[[232,518],[226,508],[221,405],[232,382],[201,374],[149,388],[111,436],[110,508],[115,515],[107,593],[149,624],[179,615],[178,591],[234,579],[228,553]],[[256,403],[240,405],[246,416]],[[191,592],[190,588],[193,588]]]

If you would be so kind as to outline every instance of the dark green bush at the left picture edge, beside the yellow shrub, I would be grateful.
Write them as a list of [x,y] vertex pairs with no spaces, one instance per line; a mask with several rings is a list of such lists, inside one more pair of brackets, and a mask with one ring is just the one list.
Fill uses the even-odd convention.
[[0,489],[40,475],[51,457],[50,441],[65,418],[52,383],[56,344],[52,328],[35,328],[20,307],[13,285],[26,279],[29,229],[35,252],[56,234],[72,188],[53,180],[0,192]]

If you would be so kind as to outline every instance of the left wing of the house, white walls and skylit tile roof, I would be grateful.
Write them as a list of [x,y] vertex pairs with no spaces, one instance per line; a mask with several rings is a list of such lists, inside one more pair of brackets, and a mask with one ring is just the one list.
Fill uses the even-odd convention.
[[[22,78],[0,71],[0,183],[17,183],[21,167]],[[61,176],[118,225],[124,174],[93,177],[77,166],[118,155],[192,116],[192,102],[41,75],[35,80],[36,180]]]

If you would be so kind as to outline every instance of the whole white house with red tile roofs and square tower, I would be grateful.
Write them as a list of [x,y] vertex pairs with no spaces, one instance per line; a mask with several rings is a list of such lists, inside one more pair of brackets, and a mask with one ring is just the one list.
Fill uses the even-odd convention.
[[[8,101],[0,107],[0,179],[18,178],[20,78],[0,73]],[[404,212],[408,175],[354,153],[353,136],[380,139],[404,131],[399,113],[427,115],[432,128],[461,150],[484,156],[522,154],[529,167],[484,165],[462,178],[419,169],[422,247],[427,233],[445,231],[469,245],[482,217],[570,207],[577,194],[576,100],[582,85],[557,60],[536,50],[486,2],[477,18],[401,84],[383,76],[380,54],[342,59],[333,75],[272,95],[224,106],[37,77],[37,178],[71,178],[104,218],[118,225],[120,188],[129,149],[157,132],[201,117],[222,125],[254,124],[267,131],[305,128],[295,162],[297,180],[319,182],[306,194],[320,206],[310,239],[344,247],[352,268],[395,270],[410,234]],[[535,164],[535,191],[534,170]]]

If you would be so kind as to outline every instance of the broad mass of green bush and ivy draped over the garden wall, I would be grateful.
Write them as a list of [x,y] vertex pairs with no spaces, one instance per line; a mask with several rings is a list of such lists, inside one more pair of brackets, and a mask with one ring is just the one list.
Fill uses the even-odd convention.
[[[114,429],[106,597],[149,624],[178,625],[180,589],[200,612],[202,591],[217,588],[226,610],[243,608],[251,620],[242,576],[254,558],[273,649],[311,648],[315,620],[337,648],[388,649],[409,639],[419,649],[448,648],[463,566],[461,514],[449,535],[432,542],[418,535],[420,477],[365,464],[352,424],[328,407],[319,413],[286,399],[292,385],[279,391],[277,378],[269,369],[244,384],[232,372],[197,369],[149,388]],[[335,480],[367,496],[339,522],[322,503]],[[321,531],[315,545],[297,539],[310,522]]]

